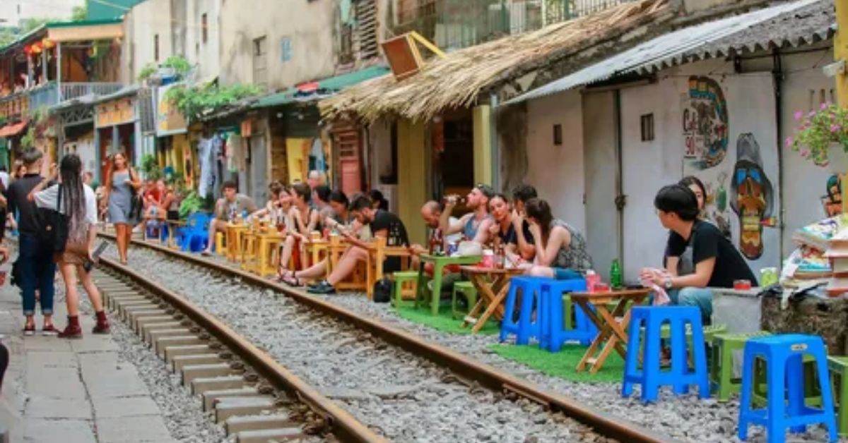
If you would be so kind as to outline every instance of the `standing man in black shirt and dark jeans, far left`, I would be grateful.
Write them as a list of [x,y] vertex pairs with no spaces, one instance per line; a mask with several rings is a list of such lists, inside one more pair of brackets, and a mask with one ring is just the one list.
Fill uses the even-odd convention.
[[42,169],[43,154],[30,148],[24,152],[24,177],[14,180],[8,186],[8,211],[19,213],[18,231],[20,232],[18,266],[21,274],[21,292],[24,297],[24,335],[34,335],[36,332],[36,289],[41,296],[44,326],[42,332],[55,334],[53,327],[53,276],[56,274],[56,264],[53,263],[53,245],[45,245],[39,238],[38,213],[36,203],[27,200],[32,188],[43,179],[39,174]]

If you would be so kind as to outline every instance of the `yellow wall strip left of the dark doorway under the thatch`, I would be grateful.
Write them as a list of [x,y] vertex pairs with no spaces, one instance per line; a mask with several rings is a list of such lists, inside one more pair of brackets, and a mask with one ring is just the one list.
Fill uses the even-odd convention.
[[398,121],[398,215],[404,221],[410,241],[423,245],[427,228],[421,219],[421,205],[427,202],[427,125]]

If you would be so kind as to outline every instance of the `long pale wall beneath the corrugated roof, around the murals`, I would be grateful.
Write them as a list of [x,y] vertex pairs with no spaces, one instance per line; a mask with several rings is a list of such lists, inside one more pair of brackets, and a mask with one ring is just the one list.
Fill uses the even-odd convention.
[[[778,227],[763,228],[762,255],[750,258],[757,270],[777,266],[795,247],[792,233],[799,227],[825,217],[822,197],[827,193],[833,167],[821,168],[783,146],[791,135],[796,111],[817,108],[832,100],[833,82],[821,73],[832,60],[830,49],[782,57],[784,76],[774,94],[770,56],[745,58],[741,72],[724,60],[688,64],[666,69],[656,83],[620,90],[622,176],[616,176],[615,92],[564,92],[527,103],[527,182],[538,187],[551,201],[556,215],[584,229],[595,267],[606,273],[613,257],[624,258],[626,277],[635,278],[643,266],[660,266],[667,233],[653,210],[656,191],[696,174],[707,182],[708,212],[724,219],[740,245],[741,218],[731,207],[736,198],[731,187],[740,140],[747,134],[756,139],[762,169],[773,187],[771,214]],[[716,81],[728,108],[728,147],[716,166],[699,169],[688,155],[687,134],[681,125],[683,111],[692,106],[693,77]],[[654,115],[655,138],[641,139],[641,117]],[[561,122],[565,146],[552,146],[552,125]],[[722,177],[721,173],[727,174]],[[724,180],[723,184],[721,180]],[[618,213],[615,208],[616,180],[622,180],[627,204],[622,213],[623,239],[616,238]],[[722,202],[722,189],[726,201]],[[582,197],[586,195],[586,207]],[[723,203],[723,204],[722,204]],[[723,207],[723,209],[720,209]],[[585,217],[585,221],[583,218]],[[783,229],[779,224],[783,223]],[[749,253],[750,255],[750,253]]]

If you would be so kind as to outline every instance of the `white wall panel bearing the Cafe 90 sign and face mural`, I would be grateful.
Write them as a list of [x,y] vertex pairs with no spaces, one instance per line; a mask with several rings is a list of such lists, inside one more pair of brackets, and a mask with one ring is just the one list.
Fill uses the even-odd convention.
[[[758,82],[762,81],[762,85]],[[682,82],[681,82],[682,83]],[[760,109],[773,106],[769,80],[739,77],[716,80],[693,75],[683,91],[683,175],[695,175],[706,186],[705,215],[734,241],[752,268],[779,260],[777,136],[774,116]],[[734,98],[729,103],[726,97]],[[730,122],[733,125],[730,125]],[[731,143],[735,140],[735,143]],[[761,142],[768,143],[761,147]]]

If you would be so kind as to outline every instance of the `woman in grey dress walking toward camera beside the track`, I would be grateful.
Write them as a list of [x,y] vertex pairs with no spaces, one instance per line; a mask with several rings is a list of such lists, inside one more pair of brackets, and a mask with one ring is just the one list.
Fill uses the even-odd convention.
[[132,196],[142,187],[136,171],[130,168],[123,152],[112,155],[106,177],[103,202],[109,206],[109,221],[114,224],[120,263],[126,264],[126,250],[130,246],[132,228],[138,224],[138,215],[131,214]]

